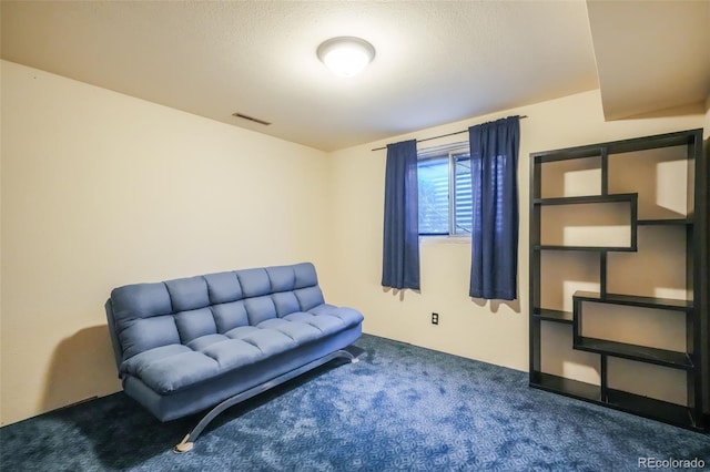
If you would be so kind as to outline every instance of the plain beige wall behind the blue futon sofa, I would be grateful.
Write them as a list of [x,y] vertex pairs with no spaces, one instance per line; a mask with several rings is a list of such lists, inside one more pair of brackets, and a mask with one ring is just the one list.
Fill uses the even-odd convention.
[[320,151],[2,62],[1,421],[116,391],[111,288],[326,258]]

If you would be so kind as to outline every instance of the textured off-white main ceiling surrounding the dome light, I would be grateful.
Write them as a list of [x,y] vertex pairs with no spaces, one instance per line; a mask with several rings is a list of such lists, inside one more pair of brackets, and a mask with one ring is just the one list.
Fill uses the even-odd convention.
[[[3,0],[1,22],[2,59],[325,151],[599,86],[580,1]],[[318,62],[336,35],[376,48],[363,74]]]

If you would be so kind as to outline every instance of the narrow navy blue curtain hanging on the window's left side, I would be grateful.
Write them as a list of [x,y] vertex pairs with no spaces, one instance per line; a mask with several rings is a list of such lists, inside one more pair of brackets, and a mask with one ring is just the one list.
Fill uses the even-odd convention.
[[387,145],[382,285],[419,288],[417,142]]

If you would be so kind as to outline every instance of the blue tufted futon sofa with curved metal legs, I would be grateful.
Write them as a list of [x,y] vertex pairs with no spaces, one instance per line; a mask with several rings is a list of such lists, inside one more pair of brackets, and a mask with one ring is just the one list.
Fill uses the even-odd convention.
[[[125,393],[161,421],[221,411],[337,357],[363,316],[325,304],[304,263],[115,288],[105,305]],[[216,406],[216,407],[215,407]]]

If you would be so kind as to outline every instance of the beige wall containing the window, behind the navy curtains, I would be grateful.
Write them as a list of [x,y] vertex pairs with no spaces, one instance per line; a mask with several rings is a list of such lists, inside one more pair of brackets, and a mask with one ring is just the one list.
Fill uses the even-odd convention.
[[[452,133],[513,114],[529,116],[520,122],[519,300],[471,300],[467,295],[470,245],[453,238],[423,239],[420,293],[384,290],[379,281],[386,152],[371,150],[389,142]],[[529,153],[694,129],[703,124],[700,109],[688,115],[671,116],[605,122],[599,92],[592,91],[333,153],[329,195],[334,205],[329,220],[335,253],[329,258],[332,264],[327,273],[333,283],[332,295],[363,310],[366,332],[527,370]],[[420,147],[466,138],[463,134],[430,141]],[[439,314],[438,326],[430,324],[432,311]],[[548,331],[555,331],[560,327],[549,328]],[[565,332],[545,332],[544,336],[551,345],[567,346],[571,342],[569,334]],[[589,363],[589,356],[571,353],[571,366],[560,366],[559,370],[566,370],[567,374],[576,378],[594,378],[598,372],[585,367]],[[585,372],[585,369],[592,372]],[[671,396],[678,398],[677,393],[671,392]]]

